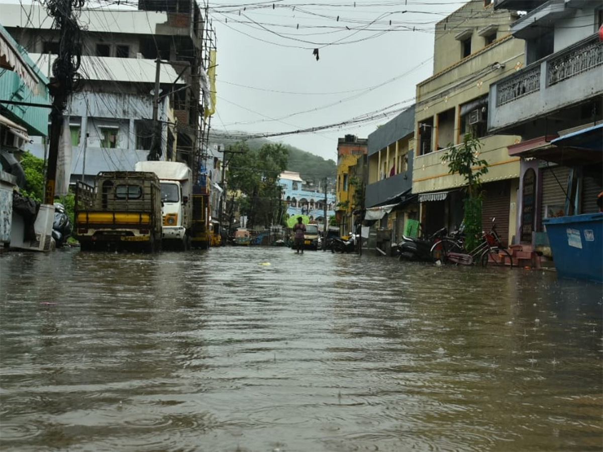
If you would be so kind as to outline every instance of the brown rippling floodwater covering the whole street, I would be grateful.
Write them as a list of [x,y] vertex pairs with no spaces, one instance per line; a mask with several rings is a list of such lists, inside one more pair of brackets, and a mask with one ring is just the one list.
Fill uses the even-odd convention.
[[268,247],[0,270],[2,452],[603,447],[598,284]]

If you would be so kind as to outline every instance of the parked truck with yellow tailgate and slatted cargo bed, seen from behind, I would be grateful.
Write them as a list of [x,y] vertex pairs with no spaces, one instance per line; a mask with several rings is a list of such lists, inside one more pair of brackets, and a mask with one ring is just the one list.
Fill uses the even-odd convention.
[[103,171],[94,186],[78,181],[74,220],[74,236],[82,251],[159,251],[159,178],[154,172]]

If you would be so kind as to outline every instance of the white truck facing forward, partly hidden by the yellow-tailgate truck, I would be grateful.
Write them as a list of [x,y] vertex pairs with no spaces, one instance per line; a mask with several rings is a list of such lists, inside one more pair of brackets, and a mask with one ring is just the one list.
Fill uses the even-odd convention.
[[192,224],[192,171],[180,162],[137,162],[134,171],[154,172],[161,184],[162,246],[189,250]]

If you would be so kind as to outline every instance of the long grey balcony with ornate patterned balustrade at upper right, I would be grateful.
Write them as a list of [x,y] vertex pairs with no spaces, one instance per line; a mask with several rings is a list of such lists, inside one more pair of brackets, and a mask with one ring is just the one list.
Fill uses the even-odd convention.
[[603,42],[592,36],[491,84],[488,132],[517,133],[527,121],[601,96],[602,65]]

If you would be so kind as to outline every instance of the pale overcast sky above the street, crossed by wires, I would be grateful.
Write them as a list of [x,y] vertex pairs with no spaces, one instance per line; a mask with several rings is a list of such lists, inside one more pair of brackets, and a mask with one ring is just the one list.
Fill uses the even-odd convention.
[[210,3],[218,51],[212,130],[274,135],[343,124],[271,137],[336,160],[338,137],[366,138],[412,105],[415,85],[433,72],[435,23],[464,3]]

